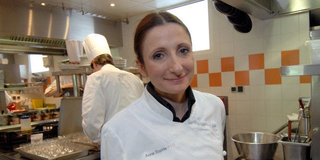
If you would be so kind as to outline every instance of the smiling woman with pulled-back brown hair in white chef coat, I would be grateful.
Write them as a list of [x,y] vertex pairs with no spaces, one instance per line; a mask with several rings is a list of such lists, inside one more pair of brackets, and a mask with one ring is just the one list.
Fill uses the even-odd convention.
[[186,26],[168,12],[151,13],[138,24],[134,47],[150,83],[103,125],[101,159],[223,159],[224,105],[190,87],[194,57]]

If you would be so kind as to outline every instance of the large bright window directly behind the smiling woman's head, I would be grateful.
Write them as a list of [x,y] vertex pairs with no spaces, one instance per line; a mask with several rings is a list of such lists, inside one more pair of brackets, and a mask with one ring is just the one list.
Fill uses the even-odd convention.
[[193,51],[210,49],[207,1],[168,10],[177,16],[189,29]]

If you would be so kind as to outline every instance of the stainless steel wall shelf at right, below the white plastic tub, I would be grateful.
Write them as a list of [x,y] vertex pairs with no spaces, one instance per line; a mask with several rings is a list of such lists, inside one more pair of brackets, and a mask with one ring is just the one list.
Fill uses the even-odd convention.
[[320,64],[282,66],[280,74],[281,76],[320,75]]

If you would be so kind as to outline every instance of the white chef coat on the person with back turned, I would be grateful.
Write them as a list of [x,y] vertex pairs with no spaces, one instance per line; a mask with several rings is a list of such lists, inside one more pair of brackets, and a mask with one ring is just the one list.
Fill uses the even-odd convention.
[[82,100],[82,126],[90,140],[99,142],[102,125],[138,99],[143,88],[138,76],[110,64],[89,75]]

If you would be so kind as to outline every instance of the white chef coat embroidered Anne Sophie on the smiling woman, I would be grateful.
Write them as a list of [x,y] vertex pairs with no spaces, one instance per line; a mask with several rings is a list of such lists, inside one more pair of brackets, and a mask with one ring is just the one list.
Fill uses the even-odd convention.
[[223,159],[224,104],[215,95],[192,91],[191,115],[179,123],[145,88],[103,125],[101,159]]

